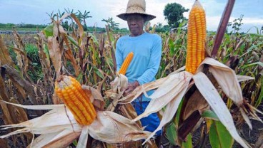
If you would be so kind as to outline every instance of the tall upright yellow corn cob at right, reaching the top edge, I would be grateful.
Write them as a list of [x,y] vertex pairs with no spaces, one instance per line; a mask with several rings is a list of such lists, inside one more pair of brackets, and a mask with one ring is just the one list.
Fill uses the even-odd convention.
[[195,73],[205,58],[205,39],[207,26],[205,12],[199,1],[195,1],[189,14],[187,32],[186,70]]

